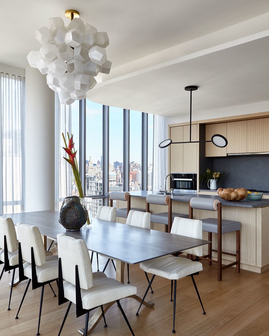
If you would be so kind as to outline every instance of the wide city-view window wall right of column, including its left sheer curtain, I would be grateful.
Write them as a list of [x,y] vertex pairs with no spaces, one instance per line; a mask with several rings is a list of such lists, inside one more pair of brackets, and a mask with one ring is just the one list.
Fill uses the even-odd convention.
[[148,118],[142,112],[86,99],[64,106],[57,96],[55,110],[57,210],[65,197],[77,192],[71,167],[62,158],[62,132],[73,134],[75,149],[80,152],[78,163],[84,162],[79,165],[81,180],[85,203],[91,199],[93,215],[99,205],[106,204],[110,191],[151,190],[153,115]]

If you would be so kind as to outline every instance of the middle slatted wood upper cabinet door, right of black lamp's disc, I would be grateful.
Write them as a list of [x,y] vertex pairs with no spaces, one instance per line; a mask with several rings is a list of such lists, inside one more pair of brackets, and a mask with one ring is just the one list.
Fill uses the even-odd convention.
[[227,123],[227,153],[247,153],[247,120]]

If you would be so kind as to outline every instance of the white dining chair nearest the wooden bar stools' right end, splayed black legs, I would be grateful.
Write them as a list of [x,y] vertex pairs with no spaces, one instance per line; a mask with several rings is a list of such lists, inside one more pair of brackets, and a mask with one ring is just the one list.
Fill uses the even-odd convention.
[[[202,221],[175,217],[171,228],[171,234],[202,239]],[[182,252],[200,256],[202,255],[202,247],[199,246]],[[172,330],[173,333],[175,333],[177,280],[184,278],[186,276],[191,277],[197,296],[203,309],[203,314],[205,314],[204,307],[193,277],[194,275],[199,274],[199,271],[203,269],[203,266],[199,261],[192,261],[184,257],[177,257],[177,256],[175,257],[169,254],[163,257],[141,262],[140,268],[143,269],[146,274],[148,272],[153,274],[153,276],[144,294],[142,302],[138,308],[137,315],[139,315],[141,305],[145,300],[145,297],[156,275],[171,280],[171,290],[174,281],[174,313],[173,313],[173,330]]]

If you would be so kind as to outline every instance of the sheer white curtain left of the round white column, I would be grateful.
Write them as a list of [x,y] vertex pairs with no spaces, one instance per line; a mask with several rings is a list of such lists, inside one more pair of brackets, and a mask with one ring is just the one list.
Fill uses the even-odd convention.
[[0,213],[6,214],[24,211],[25,78],[1,72],[0,79]]

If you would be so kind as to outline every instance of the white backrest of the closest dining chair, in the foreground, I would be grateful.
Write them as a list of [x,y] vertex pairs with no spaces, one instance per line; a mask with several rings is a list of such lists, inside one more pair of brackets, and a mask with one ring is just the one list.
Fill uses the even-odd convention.
[[61,233],[57,235],[57,246],[62,263],[63,279],[75,285],[75,267],[78,265],[80,288],[91,288],[93,286],[92,268],[84,240]]

